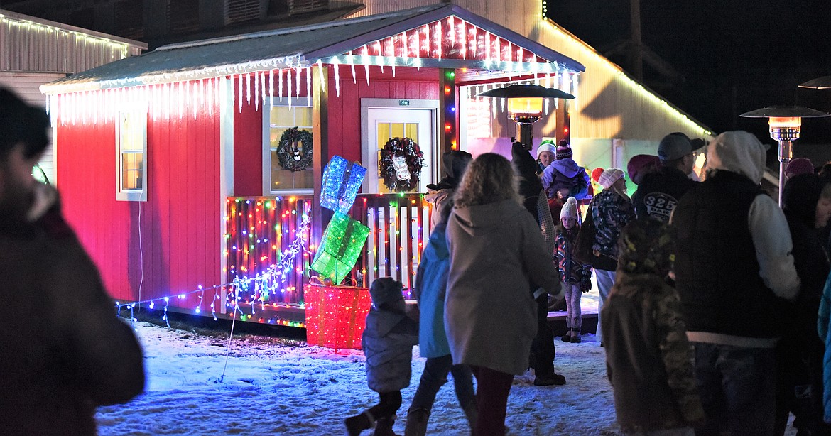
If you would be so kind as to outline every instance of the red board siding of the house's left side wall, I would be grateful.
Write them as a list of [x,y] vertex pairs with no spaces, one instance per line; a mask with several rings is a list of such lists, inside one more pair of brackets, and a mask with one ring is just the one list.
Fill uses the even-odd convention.
[[[118,300],[149,300],[222,283],[219,111],[214,106],[210,116],[205,103],[194,120],[189,100],[181,117],[148,118],[146,202],[116,201],[113,121],[57,126],[58,188],[66,218]],[[205,292],[202,311],[209,311],[213,297],[213,291]],[[189,309],[197,304],[198,293],[170,301]]]

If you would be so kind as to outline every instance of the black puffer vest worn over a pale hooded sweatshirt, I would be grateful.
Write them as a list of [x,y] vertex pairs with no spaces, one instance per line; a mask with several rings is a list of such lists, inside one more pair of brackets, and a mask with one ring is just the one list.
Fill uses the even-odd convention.
[[759,277],[747,218],[765,192],[744,175],[718,171],[675,209],[676,289],[688,331],[772,338],[779,300]]

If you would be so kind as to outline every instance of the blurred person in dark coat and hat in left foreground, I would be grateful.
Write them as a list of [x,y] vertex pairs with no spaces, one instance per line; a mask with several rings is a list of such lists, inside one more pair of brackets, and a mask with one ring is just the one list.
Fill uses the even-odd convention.
[[48,130],[42,108],[0,89],[0,429],[96,434],[97,406],[144,390],[144,359],[57,191],[32,178]]

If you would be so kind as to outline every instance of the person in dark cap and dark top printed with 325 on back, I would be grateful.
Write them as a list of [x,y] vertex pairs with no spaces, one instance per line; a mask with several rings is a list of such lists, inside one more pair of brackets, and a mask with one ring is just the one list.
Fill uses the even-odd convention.
[[[690,140],[676,132],[666,135],[658,145],[658,168],[644,174],[632,194],[637,218],[652,218],[668,223],[672,209],[698,182],[691,179],[695,166],[696,149],[704,145],[702,140]],[[629,177],[635,176],[630,171]]]

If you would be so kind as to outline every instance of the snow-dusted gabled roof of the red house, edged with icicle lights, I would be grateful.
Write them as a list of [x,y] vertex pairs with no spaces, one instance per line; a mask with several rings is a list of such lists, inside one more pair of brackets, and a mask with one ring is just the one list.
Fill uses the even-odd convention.
[[[172,44],[53,81],[42,86],[41,91],[47,94],[91,91],[330,63],[333,56],[341,56],[368,43],[451,16],[534,52],[547,61],[549,69],[545,71],[585,70],[578,61],[462,7],[438,4],[309,26]],[[352,61],[360,64],[360,57],[352,56]],[[473,59],[445,59],[433,60],[435,65],[425,63],[421,66],[439,66],[440,63],[455,68],[482,68],[488,65]]]

